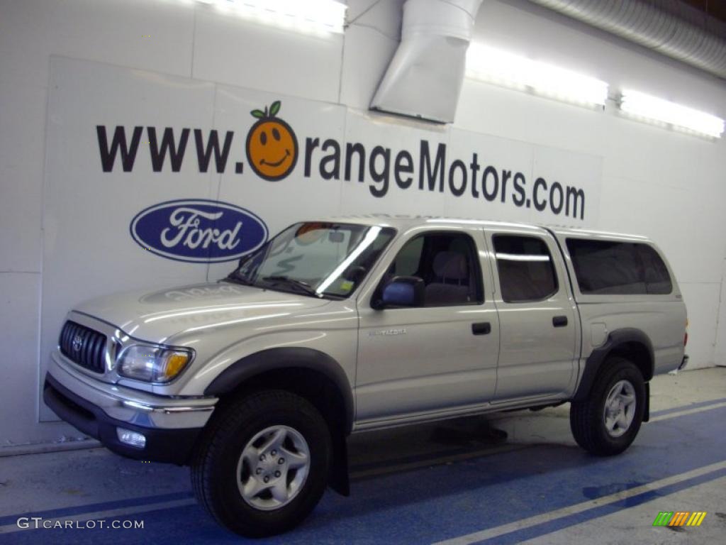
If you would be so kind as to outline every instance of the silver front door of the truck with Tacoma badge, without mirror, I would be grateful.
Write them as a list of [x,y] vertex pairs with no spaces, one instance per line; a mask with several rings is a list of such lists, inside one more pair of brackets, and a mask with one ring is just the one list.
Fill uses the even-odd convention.
[[[360,424],[464,408],[492,398],[499,324],[483,247],[481,228],[418,229],[388,252],[388,262],[359,299]],[[423,280],[423,305],[373,309],[371,300],[396,276]]]

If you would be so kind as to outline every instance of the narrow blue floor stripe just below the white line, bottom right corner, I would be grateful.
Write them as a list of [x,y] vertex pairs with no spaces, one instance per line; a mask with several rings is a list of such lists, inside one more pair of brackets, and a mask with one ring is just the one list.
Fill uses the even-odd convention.
[[[582,511],[575,514],[568,514],[565,517],[560,517],[558,519],[542,522],[538,525],[529,526],[529,528],[522,528],[521,530],[514,530],[513,532],[504,533],[500,536],[496,536],[493,538],[476,541],[476,544],[516,544],[520,541],[526,541],[528,539],[544,536],[547,533],[563,530],[563,528],[568,528],[582,522],[587,522],[588,520],[605,517],[608,514],[613,514],[624,509],[629,509],[630,507],[642,505],[656,498],[662,498],[664,496],[668,496],[669,494],[685,490],[686,488],[693,488],[694,486],[702,485],[703,483],[709,483],[710,481],[719,479],[721,477],[726,477],[726,469],[717,469],[716,471],[705,473],[703,475],[699,475],[698,477],[684,480],[680,483],[673,483],[672,485],[666,485],[661,488],[656,488],[655,490],[643,492],[642,494],[638,494],[637,496],[631,496],[621,501],[615,501],[611,504],[593,507],[592,509],[587,509],[587,511]],[[658,512],[653,512],[653,518],[655,518],[656,514],[658,514]],[[645,522],[645,524],[647,525],[648,522]]]

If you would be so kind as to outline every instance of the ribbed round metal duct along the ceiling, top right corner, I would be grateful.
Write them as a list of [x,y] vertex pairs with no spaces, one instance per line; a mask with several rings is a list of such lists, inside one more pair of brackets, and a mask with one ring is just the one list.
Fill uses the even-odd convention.
[[529,0],[726,79],[726,25],[679,0]]

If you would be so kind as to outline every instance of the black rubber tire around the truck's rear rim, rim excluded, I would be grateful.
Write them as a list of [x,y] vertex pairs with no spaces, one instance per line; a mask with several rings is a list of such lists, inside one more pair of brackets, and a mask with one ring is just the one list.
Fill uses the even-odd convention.
[[[627,381],[635,392],[635,411],[629,427],[613,437],[605,427],[605,400],[620,381]],[[597,456],[613,456],[627,449],[635,440],[645,413],[645,383],[640,369],[630,360],[613,356],[603,363],[590,395],[570,405],[570,429],[578,445]]]

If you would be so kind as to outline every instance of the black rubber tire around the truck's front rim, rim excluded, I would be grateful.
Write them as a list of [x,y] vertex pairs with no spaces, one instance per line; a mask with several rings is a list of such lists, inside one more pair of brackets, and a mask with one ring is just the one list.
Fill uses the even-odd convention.
[[[240,536],[273,536],[294,528],[314,509],[327,486],[330,432],[325,419],[307,400],[283,390],[246,395],[218,411],[192,459],[197,501],[219,524]],[[309,447],[308,472],[289,503],[258,509],[237,486],[238,462],[250,440],[275,426],[292,428],[304,438]]]

